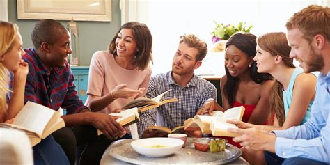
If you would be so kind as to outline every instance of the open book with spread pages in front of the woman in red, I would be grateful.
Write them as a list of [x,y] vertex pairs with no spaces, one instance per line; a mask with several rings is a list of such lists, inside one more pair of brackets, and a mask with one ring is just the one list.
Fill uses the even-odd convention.
[[226,120],[242,120],[244,107],[233,107],[225,112],[213,111],[212,116],[196,115],[184,121],[185,130],[201,130],[203,134],[213,134],[214,136],[236,136],[227,131],[228,127],[235,125],[226,123]]

